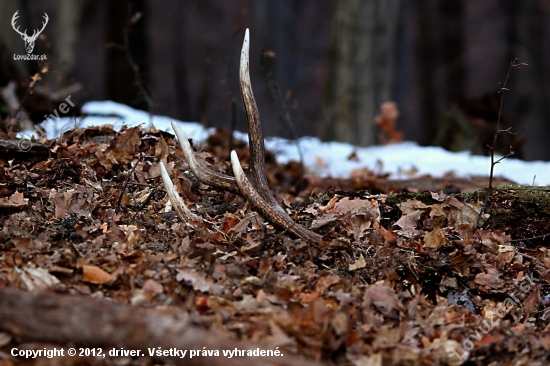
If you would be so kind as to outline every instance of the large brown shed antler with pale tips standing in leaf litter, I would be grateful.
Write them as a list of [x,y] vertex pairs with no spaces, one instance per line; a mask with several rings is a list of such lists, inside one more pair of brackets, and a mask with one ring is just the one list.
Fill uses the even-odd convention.
[[[235,151],[231,151],[231,165],[235,174],[235,178],[233,178],[211,170],[206,164],[197,159],[189,144],[187,136],[185,136],[178,124],[172,122],[172,127],[178,137],[181,149],[183,150],[183,154],[185,155],[185,159],[187,159],[191,171],[193,171],[201,182],[242,194],[258,212],[273,224],[290,231],[301,239],[318,243],[321,241],[321,235],[294,222],[281,206],[279,206],[269,191],[265,174],[265,148],[262,125],[256,100],[252,93],[252,85],[250,83],[249,43],[249,32],[247,29],[241,51],[239,77],[241,83],[241,96],[243,98],[248,120],[248,141],[250,147],[250,169],[248,177],[244,174]],[[162,162],[161,169],[164,169],[164,164],[162,164]],[[182,208],[183,201],[180,197],[177,197],[172,181],[167,174],[163,174],[163,182],[166,191],[169,192],[172,205],[176,208],[176,212],[180,218],[184,221],[193,220],[193,218],[188,216],[190,211],[187,207]],[[180,199],[178,200],[178,198]]]

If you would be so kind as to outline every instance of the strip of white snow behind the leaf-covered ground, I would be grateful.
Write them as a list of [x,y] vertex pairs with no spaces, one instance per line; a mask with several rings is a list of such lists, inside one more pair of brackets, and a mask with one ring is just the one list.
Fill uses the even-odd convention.
[[[88,102],[82,107],[87,117],[50,118],[40,127],[48,138],[54,139],[75,126],[90,127],[111,124],[120,129],[123,124],[133,127],[150,126],[150,116],[147,112],[128,107],[112,101]],[[153,125],[159,129],[173,133],[170,122],[174,119],[165,116],[152,116]],[[203,141],[211,130],[205,130],[196,122],[177,121],[187,137]],[[33,131],[25,131],[18,137],[29,137]],[[34,135],[37,136],[36,132]],[[236,132],[237,138],[248,140],[246,133]],[[486,156],[471,155],[469,152],[449,152],[440,147],[422,147],[414,142],[403,142],[387,146],[354,147],[341,142],[321,142],[315,137],[299,139],[304,156],[304,164],[310,172],[321,176],[347,177],[353,169],[368,168],[377,173],[389,173],[392,178],[411,178],[409,174],[417,170],[415,176],[430,174],[441,177],[447,172],[453,172],[459,177],[472,175],[489,175],[490,161]],[[294,141],[282,138],[267,138],[266,149],[276,153],[277,160],[285,163],[289,160],[299,160],[298,150]],[[355,161],[348,160],[354,152]],[[409,172],[409,173],[407,173]],[[531,161],[507,158],[495,168],[495,175],[502,176],[519,184],[550,185],[550,162]]]

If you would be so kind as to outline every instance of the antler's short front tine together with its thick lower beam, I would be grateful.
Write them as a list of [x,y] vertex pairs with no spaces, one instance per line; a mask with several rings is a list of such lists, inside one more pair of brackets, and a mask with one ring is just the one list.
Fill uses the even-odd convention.
[[[314,243],[321,241],[321,235],[314,233],[306,229],[305,227],[297,224],[292,220],[290,216],[279,206],[278,204],[273,205],[273,203],[265,200],[259,192],[256,190],[256,187],[248,180],[244,174],[241,163],[239,162],[239,157],[235,150],[231,151],[231,166],[233,167],[233,173],[237,179],[237,183],[241,188],[242,195],[256,208],[262,215],[264,215],[272,223],[283,227],[293,233],[294,235],[302,238],[304,240],[309,240]],[[271,196],[271,195],[270,195]],[[273,201],[275,199],[271,196]]]

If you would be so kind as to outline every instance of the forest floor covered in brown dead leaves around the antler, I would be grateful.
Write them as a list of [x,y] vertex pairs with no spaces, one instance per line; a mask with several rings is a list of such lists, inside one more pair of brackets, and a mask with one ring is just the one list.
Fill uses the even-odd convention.
[[[199,155],[231,174],[229,145],[218,132]],[[246,165],[245,144],[232,145]],[[46,149],[2,150],[0,365],[550,362],[547,206],[527,202],[540,214],[534,220],[519,211],[525,202],[497,190],[474,230],[483,191],[464,192],[483,188],[486,178],[392,182],[367,170],[319,178],[302,176],[297,163],[267,159],[278,201],[323,235],[321,243],[303,242],[242,197],[198,182],[169,133],[96,127],[73,130]],[[182,223],[166,209],[160,161],[204,222]],[[511,218],[493,221],[496,207]],[[18,302],[21,294],[29,301]],[[122,307],[106,307],[95,319],[78,313],[102,304]],[[40,306],[63,316],[53,322],[36,312]],[[113,309],[130,315],[113,323]],[[149,357],[149,348],[177,348],[173,334],[162,345],[127,334],[141,316],[166,314],[179,314],[174,329],[196,330],[197,348],[183,360]],[[96,325],[101,339],[92,334]],[[70,347],[88,347],[88,354],[67,356]],[[279,353],[260,362],[224,356],[223,347]],[[21,352],[51,349],[64,357]],[[111,356],[113,349],[142,353]]]

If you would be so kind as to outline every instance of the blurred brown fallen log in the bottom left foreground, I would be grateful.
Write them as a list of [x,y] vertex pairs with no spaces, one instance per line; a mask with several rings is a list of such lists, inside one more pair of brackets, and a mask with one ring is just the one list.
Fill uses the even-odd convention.
[[[139,308],[83,296],[31,293],[0,288],[0,330],[30,341],[83,347],[188,351],[185,358],[156,357],[175,365],[297,365],[320,363],[296,356],[224,357],[222,350],[260,350],[190,325],[187,314],[173,307]],[[191,350],[218,350],[220,356],[189,358]]]

